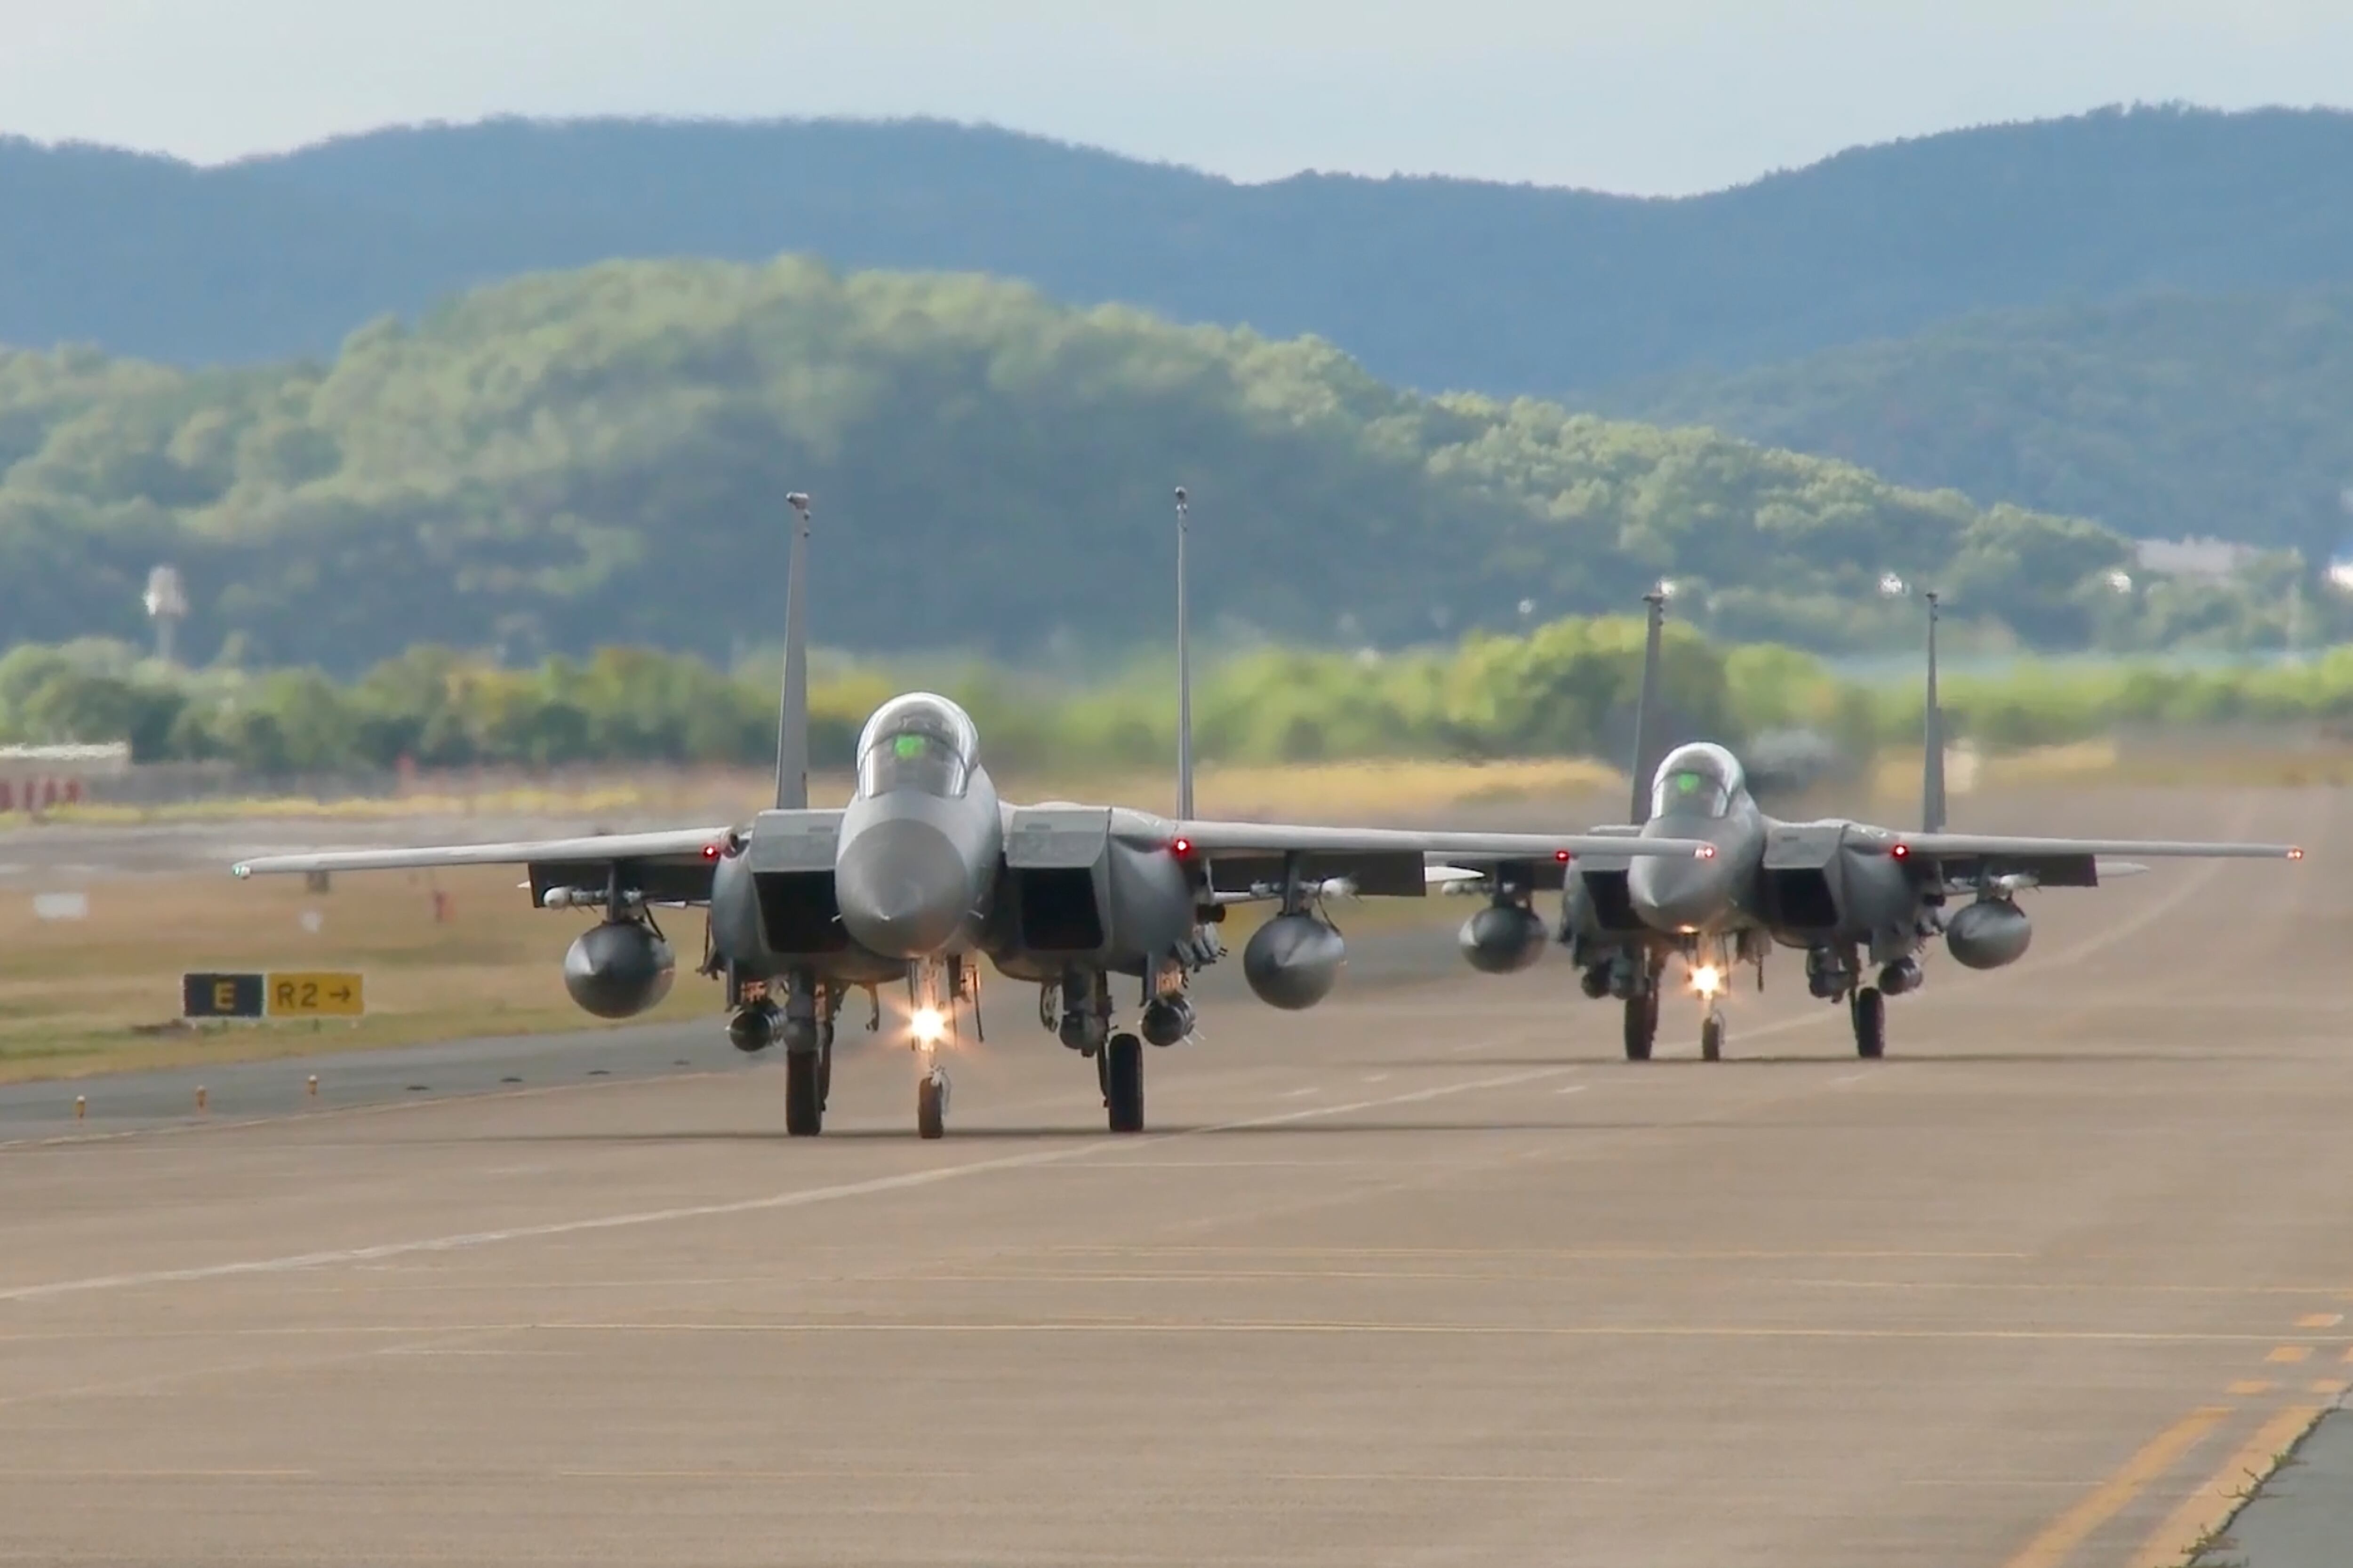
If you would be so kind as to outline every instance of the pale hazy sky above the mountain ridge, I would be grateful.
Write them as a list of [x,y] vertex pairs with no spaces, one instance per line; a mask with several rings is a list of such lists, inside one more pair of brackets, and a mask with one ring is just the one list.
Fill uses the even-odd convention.
[[0,132],[944,115],[1235,179],[1682,193],[2118,101],[2353,103],[2353,0],[0,0]]

